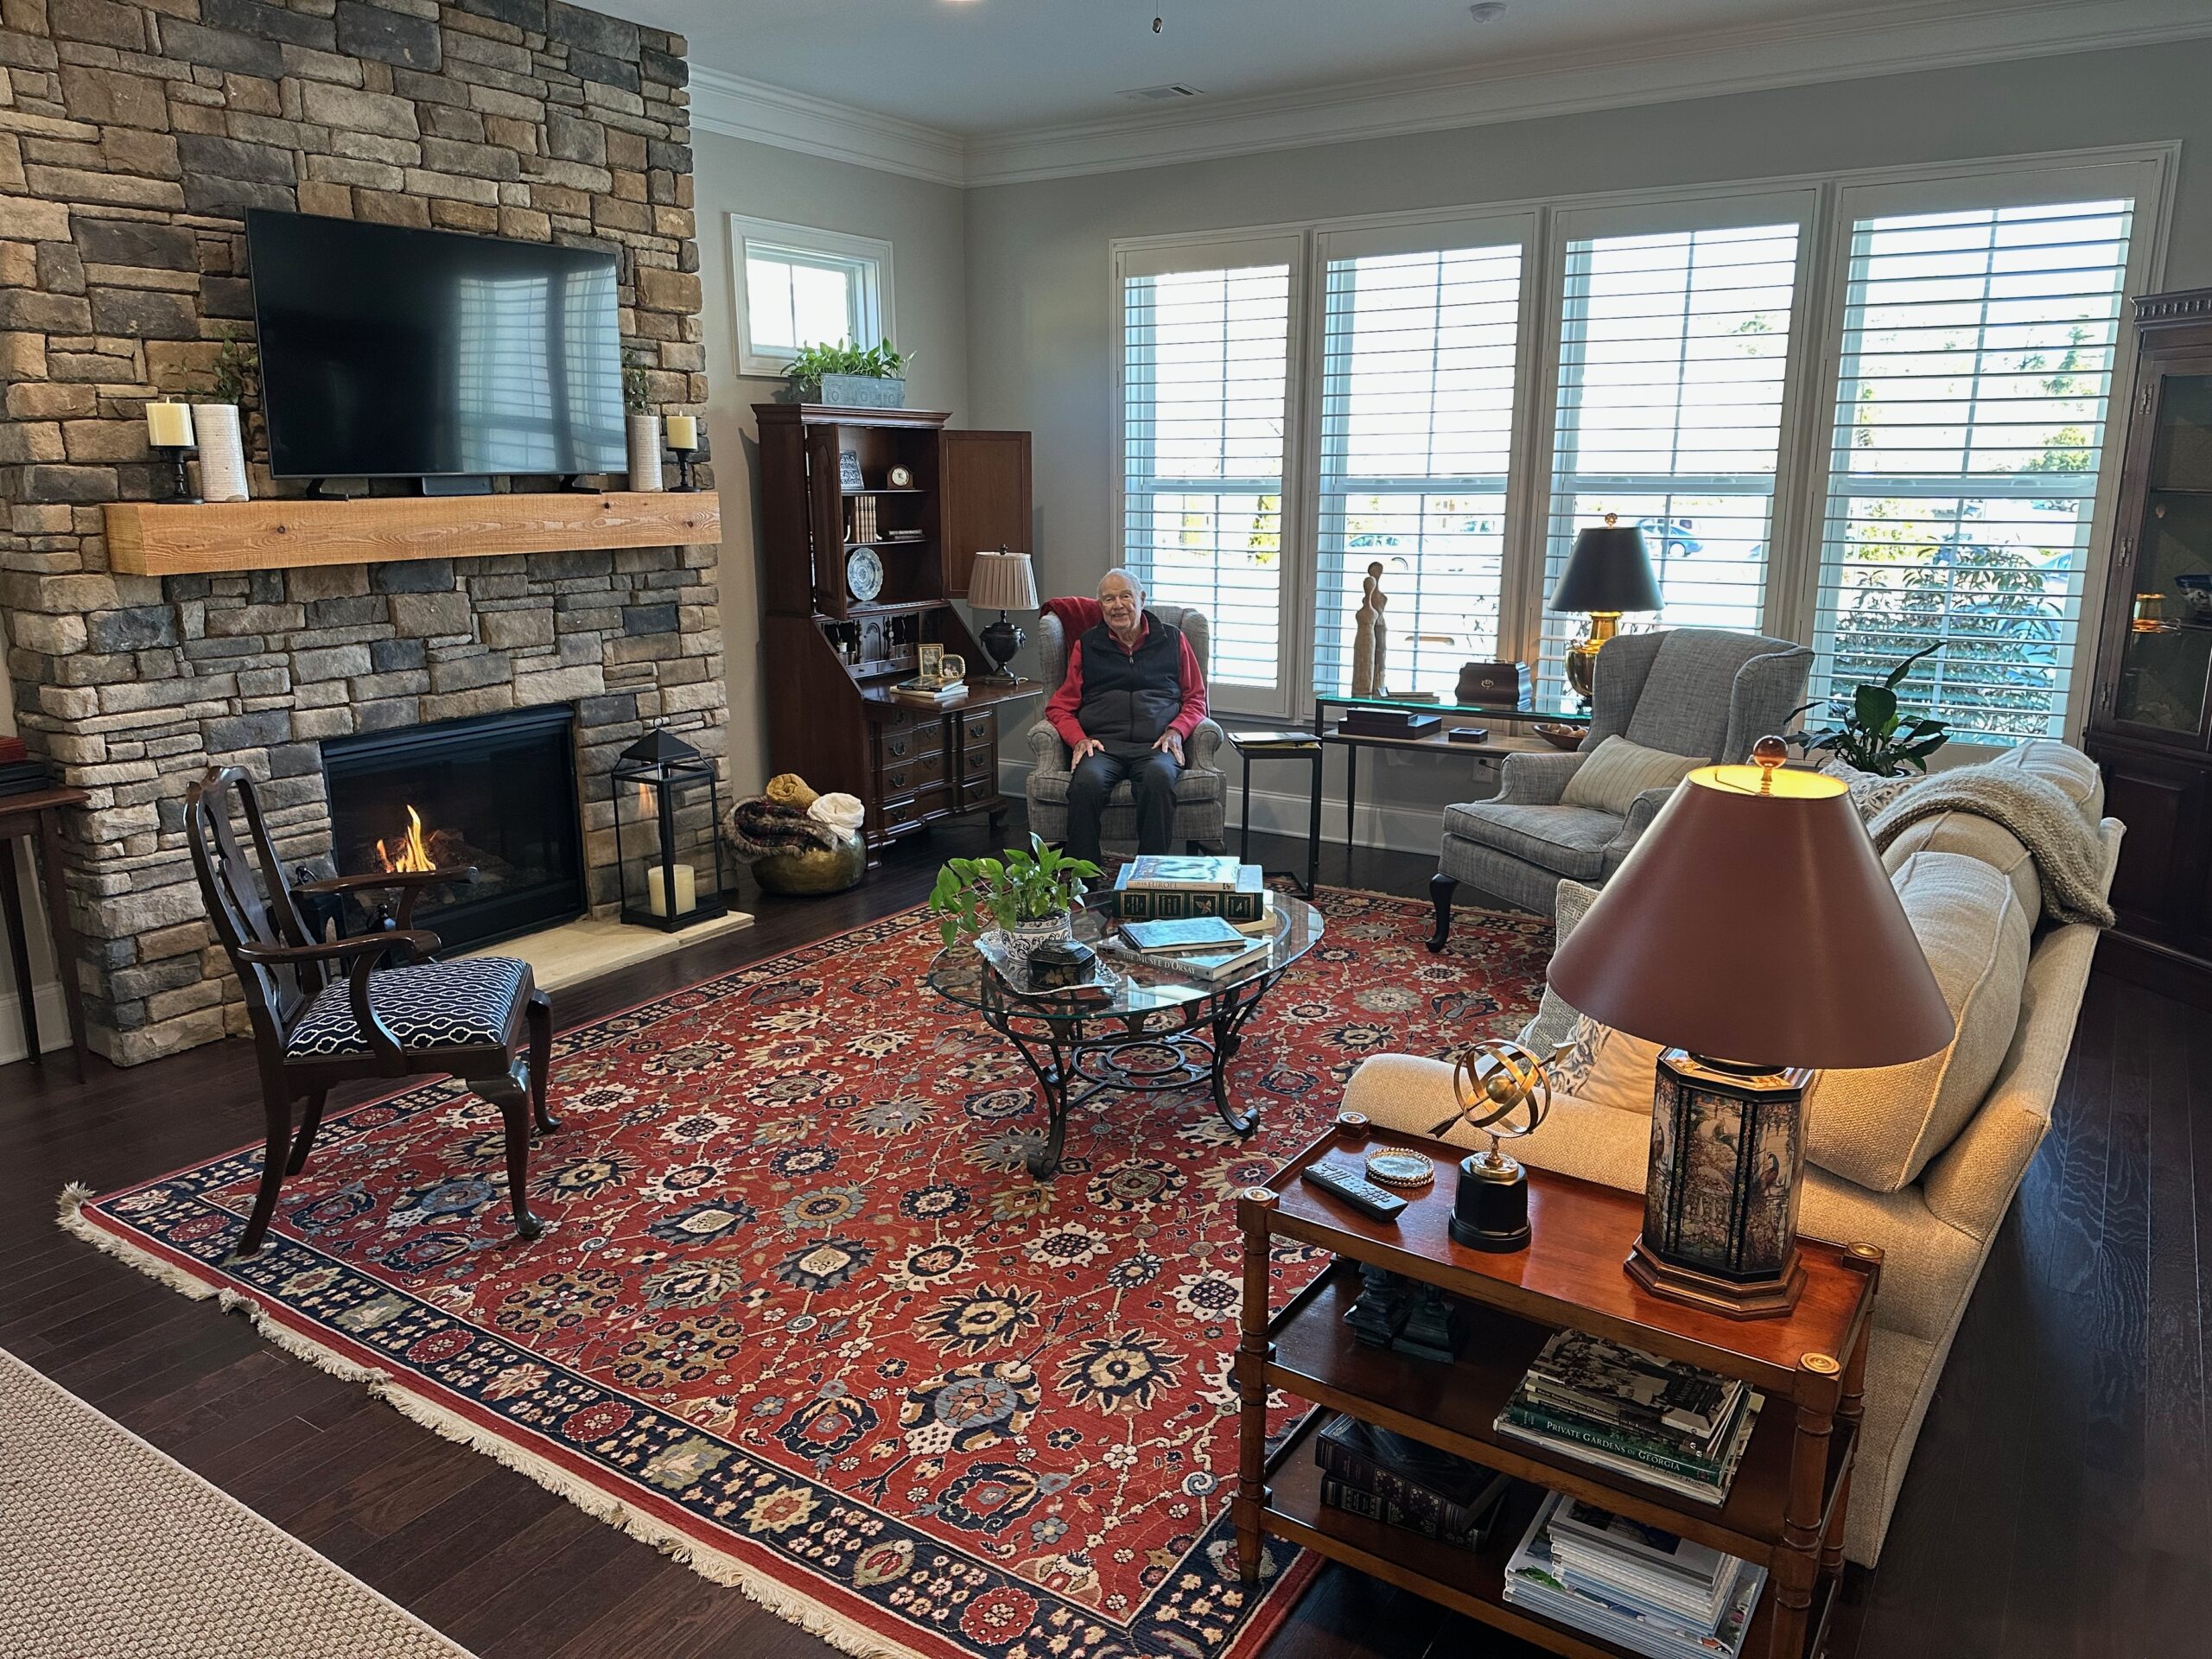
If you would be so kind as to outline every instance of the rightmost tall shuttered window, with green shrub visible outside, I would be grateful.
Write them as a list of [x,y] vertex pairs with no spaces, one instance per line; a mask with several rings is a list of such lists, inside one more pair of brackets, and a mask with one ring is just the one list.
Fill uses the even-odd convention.
[[1854,221],[1816,697],[1933,648],[1911,706],[2064,734],[2130,221],[2126,199]]

